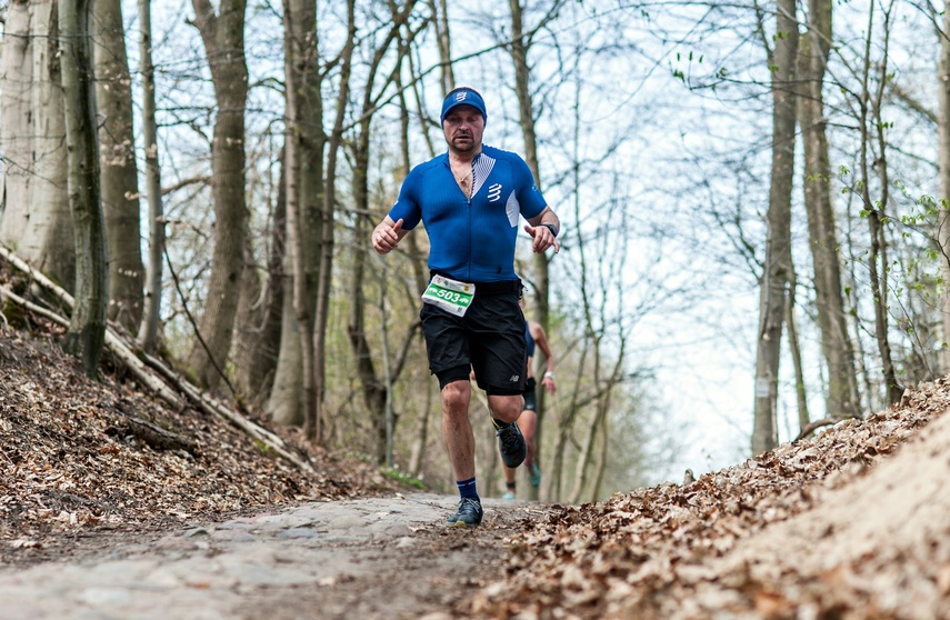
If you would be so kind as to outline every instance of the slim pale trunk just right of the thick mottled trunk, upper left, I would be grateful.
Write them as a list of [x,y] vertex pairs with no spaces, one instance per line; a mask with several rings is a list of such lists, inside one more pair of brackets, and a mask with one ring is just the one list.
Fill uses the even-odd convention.
[[149,268],[146,307],[139,328],[139,344],[153,353],[161,320],[161,273],[164,254],[164,212],[161,203],[161,168],[158,160],[156,81],[152,64],[151,0],[139,0],[139,56],[142,73],[142,137],[146,142],[146,192],[149,202]]

